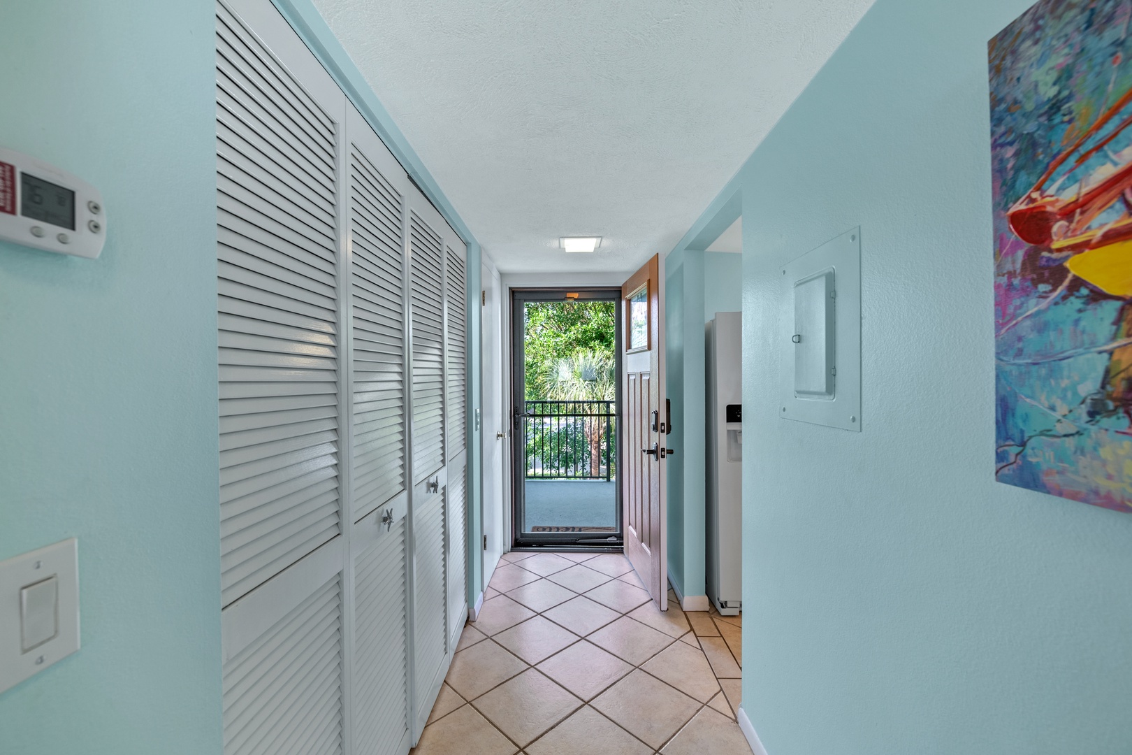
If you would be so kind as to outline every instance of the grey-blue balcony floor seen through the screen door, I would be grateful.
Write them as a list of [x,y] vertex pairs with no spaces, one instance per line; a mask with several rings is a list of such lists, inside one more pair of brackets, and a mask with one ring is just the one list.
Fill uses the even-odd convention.
[[529,532],[588,530],[612,532],[617,529],[616,517],[616,481],[526,481],[526,529]]

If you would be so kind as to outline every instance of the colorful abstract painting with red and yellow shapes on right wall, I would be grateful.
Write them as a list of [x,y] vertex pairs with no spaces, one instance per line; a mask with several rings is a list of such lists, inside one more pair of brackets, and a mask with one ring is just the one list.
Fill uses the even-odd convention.
[[1132,0],[989,43],[995,473],[1132,512]]

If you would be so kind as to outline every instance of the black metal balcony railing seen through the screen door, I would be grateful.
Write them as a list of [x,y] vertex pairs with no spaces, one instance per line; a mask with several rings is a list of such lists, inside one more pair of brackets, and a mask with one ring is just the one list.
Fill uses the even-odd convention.
[[611,401],[528,401],[529,480],[612,480],[617,417]]

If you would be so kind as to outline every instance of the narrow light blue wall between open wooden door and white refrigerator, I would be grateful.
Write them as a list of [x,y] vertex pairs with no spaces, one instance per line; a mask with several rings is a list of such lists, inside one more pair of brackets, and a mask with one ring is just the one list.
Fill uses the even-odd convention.
[[664,259],[666,386],[672,402],[668,572],[681,595],[706,594],[704,325],[738,311],[741,257],[681,249]]

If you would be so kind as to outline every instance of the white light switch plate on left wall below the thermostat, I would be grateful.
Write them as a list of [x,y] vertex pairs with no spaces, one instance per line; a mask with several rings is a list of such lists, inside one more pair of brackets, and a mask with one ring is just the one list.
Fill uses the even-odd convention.
[[[54,636],[24,651],[22,594],[55,578]],[[27,600],[32,593],[24,593]],[[33,601],[34,602],[34,601]],[[75,538],[0,561],[0,693],[78,650],[78,541]]]

